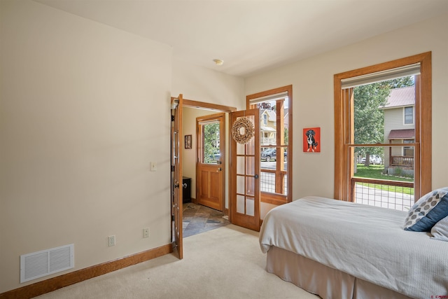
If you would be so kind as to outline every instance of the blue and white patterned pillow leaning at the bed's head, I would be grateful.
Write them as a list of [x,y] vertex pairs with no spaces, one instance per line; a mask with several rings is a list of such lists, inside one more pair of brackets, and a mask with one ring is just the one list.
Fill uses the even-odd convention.
[[442,218],[448,216],[448,187],[423,195],[409,210],[405,230],[428,232]]

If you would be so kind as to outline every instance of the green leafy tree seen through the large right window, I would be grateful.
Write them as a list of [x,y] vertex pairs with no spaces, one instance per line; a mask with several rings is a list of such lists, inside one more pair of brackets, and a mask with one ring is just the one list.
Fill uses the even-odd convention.
[[[412,85],[414,77],[407,76],[353,88],[355,144],[384,143],[384,111],[379,108],[387,104],[392,88]],[[355,153],[365,156],[365,166],[368,166],[370,154],[383,155],[384,148],[357,147]]]

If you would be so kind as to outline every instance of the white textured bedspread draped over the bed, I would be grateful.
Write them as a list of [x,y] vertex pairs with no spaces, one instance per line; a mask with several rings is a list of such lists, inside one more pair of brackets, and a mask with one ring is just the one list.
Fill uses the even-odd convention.
[[[448,295],[448,242],[402,229],[407,213],[323,197],[269,211],[260,246],[293,251],[412,298]],[[431,297],[432,296],[432,297]]]

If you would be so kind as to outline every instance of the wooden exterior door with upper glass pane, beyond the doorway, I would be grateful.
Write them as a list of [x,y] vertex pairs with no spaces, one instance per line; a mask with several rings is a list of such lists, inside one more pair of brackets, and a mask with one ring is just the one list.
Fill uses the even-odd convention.
[[218,211],[224,207],[225,113],[196,118],[196,199]]

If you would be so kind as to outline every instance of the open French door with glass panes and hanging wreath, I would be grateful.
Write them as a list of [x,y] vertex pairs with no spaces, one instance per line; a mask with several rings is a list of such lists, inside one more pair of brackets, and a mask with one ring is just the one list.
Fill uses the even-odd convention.
[[[230,222],[260,231],[260,112],[258,109],[230,113],[230,125],[248,118],[255,136],[247,144],[230,138]],[[244,133],[244,132],[243,132]]]

